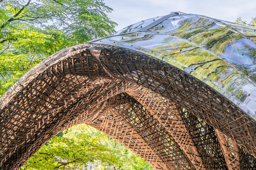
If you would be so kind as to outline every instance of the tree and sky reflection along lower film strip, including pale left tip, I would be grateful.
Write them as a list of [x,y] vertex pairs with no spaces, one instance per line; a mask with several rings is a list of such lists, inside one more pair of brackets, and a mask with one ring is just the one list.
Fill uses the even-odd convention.
[[[195,77],[205,82],[209,82],[210,79],[215,84],[218,84],[218,87],[221,87],[222,90],[234,94],[242,101],[245,100],[247,94],[241,87],[244,86],[244,83],[248,82],[241,80],[248,78],[246,78],[243,73],[239,72],[232,64],[221,59],[217,54],[203,49],[200,45],[176,36],[162,34],[156,36],[154,34],[143,33],[137,36],[136,34],[123,36],[124,38],[119,42],[120,46],[134,45],[136,50],[153,55],[182,70],[189,68],[189,73]],[[155,47],[147,49],[140,47],[149,44]],[[153,54],[151,51],[156,53]],[[200,75],[197,73],[204,78],[198,77]]]

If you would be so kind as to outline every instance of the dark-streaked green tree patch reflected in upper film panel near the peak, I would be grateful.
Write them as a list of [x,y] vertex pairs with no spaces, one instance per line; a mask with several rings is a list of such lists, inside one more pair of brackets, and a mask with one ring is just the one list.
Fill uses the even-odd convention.
[[228,26],[219,26],[214,21],[205,18],[188,18],[181,21],[181,25],[179,29],[169,33],[204,45],[217,54],[222,54],[230,42],[243,37],[228,29]]

